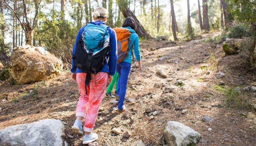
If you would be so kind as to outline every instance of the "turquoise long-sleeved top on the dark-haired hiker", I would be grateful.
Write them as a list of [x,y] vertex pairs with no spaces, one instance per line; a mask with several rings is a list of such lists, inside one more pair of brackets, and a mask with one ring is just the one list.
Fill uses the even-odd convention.
[[136,57],[136,60],[140,61],[139,36],[135,33],[135,31],[131,27],[123,27],[123,28],[129,29],[129,31],[131,33],[130,39],[131,39],[131,43],[132,43],[132,45],[130,45],[128,55],[127,55],[126,59],[124,59],[123,61],[132,64],[132,46],[134,46],[133,53]]

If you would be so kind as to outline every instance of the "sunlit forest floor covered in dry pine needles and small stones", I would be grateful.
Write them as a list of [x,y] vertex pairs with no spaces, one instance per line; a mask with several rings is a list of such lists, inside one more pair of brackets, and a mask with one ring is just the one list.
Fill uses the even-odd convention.
[[[255,146],[255,111],[231,108],[225,95],[216,88],[219,81],[223,81],[225,87],[255,86],[255,73],[247,71],[239,55],[225,56],[222,42],[203,41],[216,35],[207,34],[200,41],[177,43],[142,41],[143,69],[138,71],[136,64],[132,65],[126,95],[127,99],[135,99],[136,104],[124,103],[126,110],[135,112],[135,119],[131,121],[123,113],[116,114],[113,111],[116,104],[110,103],[112,99],[103,98],[103,111],[98,114],[94,127],[94,132],[99,135],[98,145],[129,146],[138,140],[146,146],[165,145],[163,135],[167,122],[178,121],[201,134],[197,146]],[[145,55],[149,52],[153,53]],[[168,58],[159,60],[164,56]],[[168,74],[166,79],[156,74],[159,69]],[[218,72],[224,73],[225,77],[216,78]],[[184,86],[173,85],[178,79],[184,81]],[[154,86],[156,83],[160,84],[159,88]],[[172,93],[163,92],[165,87],[170,86],[174,88]],[[81,146],[83,137],[71,130],[78,97],[77,84],[71,79],[69,71],[35,84],[1,83],[0,129],[40,119],[59,119],[65,125],[64,141],[69,146]],[[255,93],[250,98],[255,102]],[[159,112],[152,120],[145,113],[147,107]],[[181,114],[179,108],[187,109],[188,113]],[[109,113],[105,114],[107,110]],[[204,122],[204,116],[215,120]],[[123,138],[122,134],[111,132],[114,127],[129,130],[132,135]],[[209,127],[212,131],[208,131]]]

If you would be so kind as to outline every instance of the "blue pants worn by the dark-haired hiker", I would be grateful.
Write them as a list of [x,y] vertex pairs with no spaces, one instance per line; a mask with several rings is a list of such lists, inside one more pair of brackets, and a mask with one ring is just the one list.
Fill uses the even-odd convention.
[[126,95],[126,89],[127,89],[127,81],[129,78],[130,74],[130,69],[131,69],[131,64],[128,62],[121,62],[120,64],[117,64],[116,66],[116,71],[119,74],[119,78],[117,81],[117,94],[119,95],[119,100],[117,104],[117,108],[119,110],[123,110],[123,104],[124,104],[124,99]]

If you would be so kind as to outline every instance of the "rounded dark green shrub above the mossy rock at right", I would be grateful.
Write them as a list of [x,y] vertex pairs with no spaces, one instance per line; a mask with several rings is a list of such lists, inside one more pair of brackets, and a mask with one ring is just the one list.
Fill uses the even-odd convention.
[[243,23],[238,23],[229,29],[229,38],[242,38],[245,36],[252,36],[253,33],[248,25]]

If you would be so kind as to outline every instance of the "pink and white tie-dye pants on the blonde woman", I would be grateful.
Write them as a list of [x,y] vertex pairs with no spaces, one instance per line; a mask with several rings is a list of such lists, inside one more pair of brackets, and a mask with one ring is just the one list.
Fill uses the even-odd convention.
[[90,84],[86,86],[88,95],[85,93],[85,77],[86,73],[76,73],[76,82],[78,84],[79,94],[81,95],[76,107],[76,116],[85,118],[84,131],[92,132],[107,86],[108,73],[99,72],[96,74],[96,77],[94,74],[91,74]]

